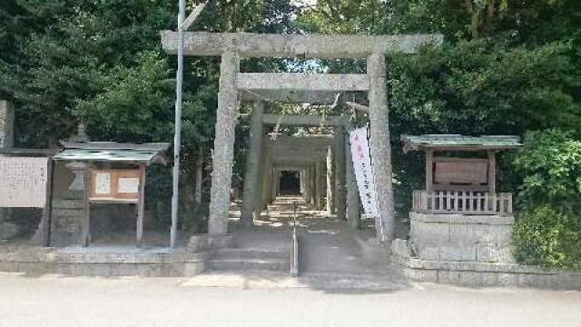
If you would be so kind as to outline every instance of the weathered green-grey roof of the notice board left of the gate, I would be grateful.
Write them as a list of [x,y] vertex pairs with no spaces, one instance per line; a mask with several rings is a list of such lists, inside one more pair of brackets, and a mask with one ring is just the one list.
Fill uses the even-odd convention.
[[115,142],[61,142],[64,149],[54,160],[110,163],[167,163],[166,143],[127,144]]

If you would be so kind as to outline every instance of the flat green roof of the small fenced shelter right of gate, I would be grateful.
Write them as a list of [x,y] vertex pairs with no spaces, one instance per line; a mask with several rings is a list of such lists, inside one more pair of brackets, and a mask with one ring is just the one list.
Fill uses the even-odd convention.
[[523,147],[520,136],[514,135],[401,135],[401,141],[404,144],[405,152],[425,149],[440,151],[506,150]]

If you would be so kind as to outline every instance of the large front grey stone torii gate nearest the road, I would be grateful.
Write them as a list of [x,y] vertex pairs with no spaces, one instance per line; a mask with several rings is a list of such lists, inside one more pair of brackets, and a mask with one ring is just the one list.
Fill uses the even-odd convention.
[[[179,33],[162,32],[166,53],[177,54]],[[222,56],[214,140],[209,237],[228,233],[235,125],[241,100],[261,94],[281,102],[317,102],[344,91],[367,92],[370,147],[384,234],[394,238],[394,208],[389,144],[386,63],[388,53],[414,53],[420,45],[440,45],[442,35],[259,35],[248,33],[183,33],[184,55]],[[241,57],[367,58],[367,74],[241,73]],[[241,92],[242,91],[242,92]],[[246,91],[246,92],[244,92]],[[259,104],[260,105],[260,104]]]

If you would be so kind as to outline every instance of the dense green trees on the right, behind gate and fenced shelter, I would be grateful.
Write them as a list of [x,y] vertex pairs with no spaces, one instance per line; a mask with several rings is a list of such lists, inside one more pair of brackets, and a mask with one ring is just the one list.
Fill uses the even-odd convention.
[[[319,33],[444,35],[441,49],[389,55],[395,193],[405,215],[423,163],[400,151],[400,134],[563,127],[581,136],[580,18],[581,4],[571,0],[322,0],[297,25]],[[335,73],[364,72],[360,61],[324,63]],[[512,185],[500,187],[515,191]]]

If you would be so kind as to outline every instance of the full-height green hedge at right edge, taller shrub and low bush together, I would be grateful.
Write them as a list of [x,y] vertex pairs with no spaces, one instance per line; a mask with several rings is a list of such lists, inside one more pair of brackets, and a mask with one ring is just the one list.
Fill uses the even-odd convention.
[[523,175],[512,246],[519,262],[581,268],[581,142],[571,135],[529,133],[515,156]]

